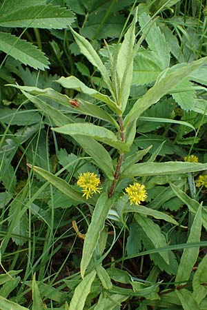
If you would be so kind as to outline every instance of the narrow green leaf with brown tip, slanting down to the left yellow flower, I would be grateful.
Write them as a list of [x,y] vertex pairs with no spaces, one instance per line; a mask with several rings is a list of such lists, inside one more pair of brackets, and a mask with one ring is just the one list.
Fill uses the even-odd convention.
[[63,194],[66,194],[70,198],[79,201],[80,203],[86,203],[86,199],[81,196],[81,193],[79,193],[74,187],[69,185],[65,180],[62,178],[59,178],[58,176],[55,176],[54,174],[51,174],[50,172],[37,167],[28,165],[28,167],[32,168],[34,172],[37,172],[40,176],[43,176],[46,180],[48,180],[53,186],[57,187],[59,191],[61,191]]

